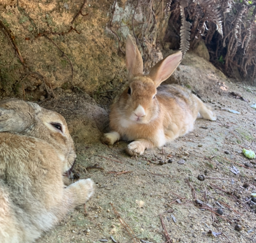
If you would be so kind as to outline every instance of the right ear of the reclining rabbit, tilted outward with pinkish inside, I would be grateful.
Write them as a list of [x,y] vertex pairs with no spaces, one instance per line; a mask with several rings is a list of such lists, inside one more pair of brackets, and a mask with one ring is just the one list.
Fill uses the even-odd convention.
[[182,53],[179,51],[165,57],[151,68],[148,77],[154,81],[156,87],[172,75],[173,71],[180,64],[181,58]]

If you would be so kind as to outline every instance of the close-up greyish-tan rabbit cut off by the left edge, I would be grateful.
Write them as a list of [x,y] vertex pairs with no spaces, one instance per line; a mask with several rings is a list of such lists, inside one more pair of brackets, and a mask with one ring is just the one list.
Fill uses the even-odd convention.
[[31,102],[0,101],[0,242],[30,243],[93,194],[66,187],[76,154],[65,119]]

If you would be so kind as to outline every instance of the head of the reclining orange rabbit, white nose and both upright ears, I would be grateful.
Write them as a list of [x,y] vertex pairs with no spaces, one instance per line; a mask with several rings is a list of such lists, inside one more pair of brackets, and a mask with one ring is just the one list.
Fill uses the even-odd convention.
[[143,60],[131,35],[126,41],[126,67],[129,85],[119,99],[119,112],[126,121],[147,124],[158,116],[159,105],[156,88],[180,64],[179,51],[167,56],[151,68],[148,75],[143,74]]

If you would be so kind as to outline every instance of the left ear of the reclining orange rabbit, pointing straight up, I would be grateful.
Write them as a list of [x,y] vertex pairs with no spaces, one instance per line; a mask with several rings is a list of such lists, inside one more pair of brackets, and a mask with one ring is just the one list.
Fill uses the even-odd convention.
[[127,37],[125,52],[128,81],[131,81],[133,77],[143,74],[143,60],[131,35]]

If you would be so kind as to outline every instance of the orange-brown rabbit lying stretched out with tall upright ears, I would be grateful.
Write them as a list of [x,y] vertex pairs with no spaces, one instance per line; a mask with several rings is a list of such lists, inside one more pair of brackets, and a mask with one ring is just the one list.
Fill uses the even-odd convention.
[[180,51],[167,56],[152,67],[148,75],[143,75],[141,54],[128,35],[126,67],[129,87],[111,108],[111,132],[101,138],[104,143],[112,145],[119,139],[134,140],[126,152],[138,156],[145,149],[163,146],[192,131],[198,113],[204,119],[216,121],[211,108],[189,90],[178,85],[158,87],[177,68],[181,57]]

